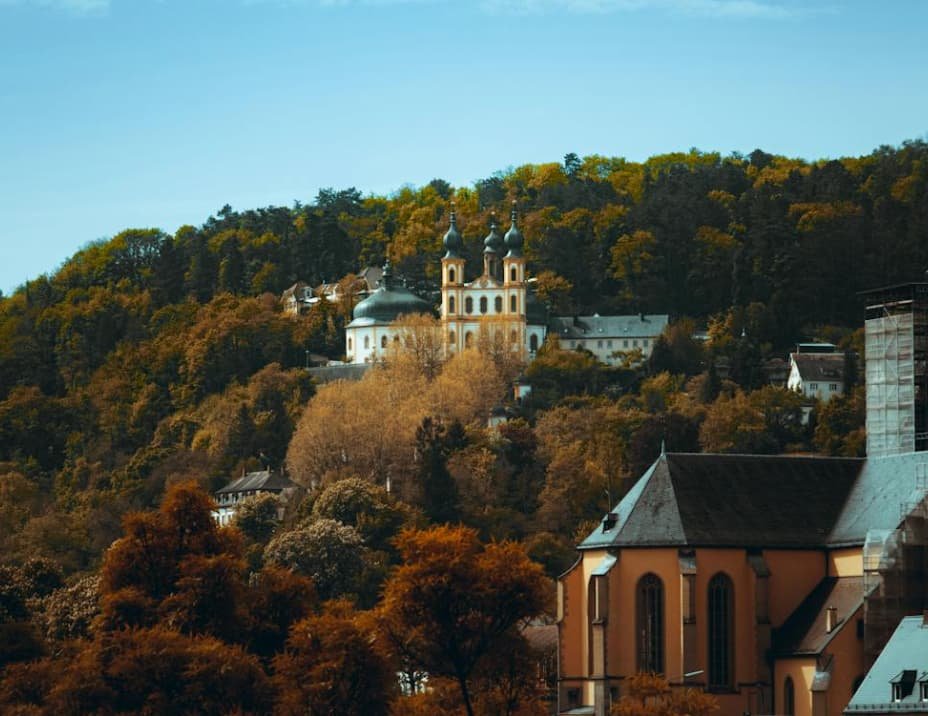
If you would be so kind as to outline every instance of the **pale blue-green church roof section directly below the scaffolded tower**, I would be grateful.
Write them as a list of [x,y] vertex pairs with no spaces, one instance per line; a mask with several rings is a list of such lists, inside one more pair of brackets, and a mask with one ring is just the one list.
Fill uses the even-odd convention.
[[903,506],[924,495],[917,489],[920,471],[928,475],[928,453],[868,458],[828,536],[829,545],[862,544],[869,529],[896,529]]

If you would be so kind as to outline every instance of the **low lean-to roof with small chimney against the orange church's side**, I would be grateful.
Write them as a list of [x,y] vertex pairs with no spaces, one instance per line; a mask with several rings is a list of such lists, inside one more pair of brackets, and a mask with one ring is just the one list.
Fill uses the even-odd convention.
[[[789,619],[773,634],[777,656],[821,654],[842,629],[855,629],[852,617],[864,603],[863,577],[826,577],[807,596]],[[837,609],[838,624],[825,630],[828,607]]]

